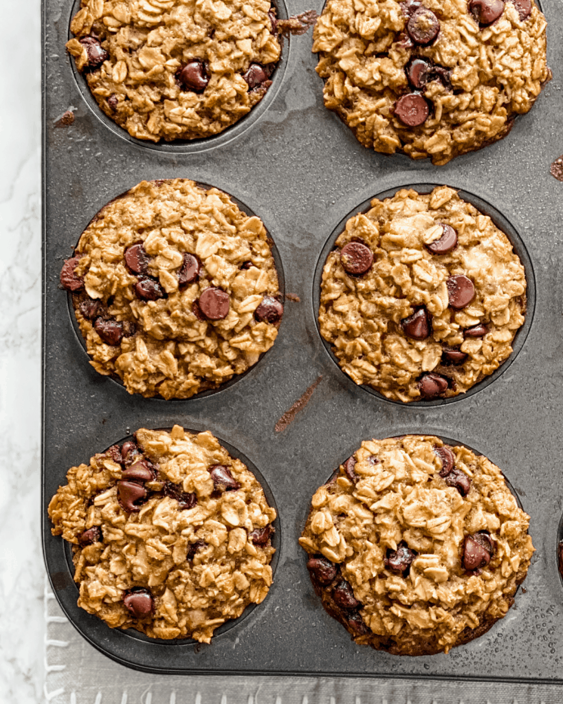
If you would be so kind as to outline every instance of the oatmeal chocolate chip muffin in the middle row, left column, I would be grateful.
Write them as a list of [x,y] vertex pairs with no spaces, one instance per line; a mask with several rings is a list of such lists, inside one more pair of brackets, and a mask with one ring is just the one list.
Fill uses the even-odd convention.
[[143,181],[108,203],[61,272],[91,365],[163,398],[245,372],[284,312],[270,244],[259,218],[186,179]]

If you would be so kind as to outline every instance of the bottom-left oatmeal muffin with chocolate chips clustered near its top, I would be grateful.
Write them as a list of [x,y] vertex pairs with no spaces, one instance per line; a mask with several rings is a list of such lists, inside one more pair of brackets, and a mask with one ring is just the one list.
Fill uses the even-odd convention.
[[272,584],[276,512],[210,432],[140,429],[71,467],[49,503],[78,605],[111,628],[209,643]]

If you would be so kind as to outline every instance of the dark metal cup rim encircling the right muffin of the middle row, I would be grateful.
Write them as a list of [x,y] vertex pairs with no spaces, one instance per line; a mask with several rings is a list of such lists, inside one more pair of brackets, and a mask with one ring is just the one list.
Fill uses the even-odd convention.
[[331,234],[329,234],[329,237],[327,237],[327,239],[325,240],[324,245],[322,246],[322,249],[320,251],[320,255],[317,258],[317,263],[315,264],[315,271],[312,277],[312,296],[310,300],[312,303],[312,315],[315,320],[315,329],[321,341],[322,347],[324,348],[324,351],[327,353],[332,363],[334,363],[334,365],[336,366],[336,369],[339,372],[339,377],[346,380],[346,384],[349,388],[362,389],[363,391],[367,391],[368,394],[371,394],[372,396],[377,398],[379,401],[392,403],[395,406],[406,406],[408,408],[417,409],[437,407],[439,408],[442,406],[448,406],[450,403],[457,403],[463,401],[464,399],[471,398],[472,396],[474,396],[474,394],[478,394],[479,391],[483,391],[487,388],[487,386],[493,384],[493,382],[495,382],[499,377],[501,377],[510,367],[510,365],[512,365],[514,360],[519,355],[521,349],[524,347],[526,339],[528,338],[529,332],[533,325],[533,318],[536,311],[536,274],[534,271],[529,251],[526,247],[526,244],[524,243],[524,240],[521,238],[517,228],[512,225],[511,220],[509,220],[507,215],[505,215],[502,210],[494,206],[491,202],[484,199],[482,196],[479,196],[474,192],[467,190],[467,188],[464,186],[457,187],[452,183],[448,183],[447,187],[454,189],[456,193],[460,196],[460,198],[470,203],[472,206],[474,206],[474,208],[479,210],[480,213],[488,215],[488,217],[491,218],[494,225],[498,227],[498,229],[503,234],[505,234],[507,239],[510,241],[514,253],[516,253],[522,266],[524,267],[524,272],[526,275],[526,312],[524,313],[524,324],[521,325],[521,327],[517,330],[516,334],[514,335],[514,339],[512,340],[512,353],[510,353],[510,356],[504,362],[502,362],[491,375],[484,377],[483,379],[481,379],[480,382],[474,384],[474,386],[472,386],[464,393],[457,394],[456,396],[451,396],[450,398],[436,398],[430,401],[417,400],[404,403],[403,401],[397,401],[393,398],[387,398],[386,396],[384,396],[384,394],[381,394],[379,391],[372,389],[372,387],[368,386],[367,384],[356,384],[353,379],[351,379],[346,374],[346,372],[341,369],[339,361],[334,355],[334,352],[332,351],[333,346],[331,345],[331,343],[327,342],[324,337],[322,337],[319,323],[322,272],[324,269],[324,265],[327,262],[329,253],[332,251],[332,249],[334,249],[334,243],[336,239],[344,231],[346,222],[348,222],[348,220],[354,215],[366,213],[371,208],[371,201],[373,201],[374,199],[383,201],[384,199],[392,198],[396,193],[398,193],[398,191],[401,191],[403,189],[412,189],[421,195],[426,195],[429,194],[436,187],[444,187],[445,185],[446,184],[444,183],[433,182],[431,180],[413,183],[403,182],[398,186],[388,187],[384,191],[380,191],[374,196],[370,196],[368,199],[359,203],[358,206],[355,206],[352,210],[349,210],[348,213],[339,220],[337,225],[331,231]]

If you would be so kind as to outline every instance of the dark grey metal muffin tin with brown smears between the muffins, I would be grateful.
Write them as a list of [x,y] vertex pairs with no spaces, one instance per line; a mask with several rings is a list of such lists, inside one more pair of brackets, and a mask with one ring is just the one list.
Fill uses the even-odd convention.
[[[322,3],[288,0],[295,15]],[[563,402],[563,184],[549,173],[563,151],[557,46],[563,15],[544,0],[555,77],[531,113],[502,142],[438,168],[362,147],[322,104],[311,35],[284,45],[275,92],[246,123],[194,144],[123,138],[82,90],[64,44],[72,0],[44,0],[44,445],[43,542],[53,589],[70,621],[101,652],[150,672],[380,675],[414,679],[561,682],[563,586],[555,547],[563,510],[559,424]],[[282,14],[282,13],[281,13]],[[70,127],[55,127],[69,108]],[[244,124],[243,124],[244,123]],[[186,401],[129,396],[92,369],[72,327],[63,259],[95,213],[141,180],[191,178],[233,194],[260,215],[284,267],[279,337],[236,384]],[[448,184],[490,203],[527,268],[529,334],[512,363],[455,403],[403,406],[345,377],[317,332],[315,270],[339,223],[390,189]],[[519,238],[519,239],[518,239]],[[519,249],[519,246],[523,249]],[[529,259],[523,253],[527,251]],[[530,272],[533,275],[530,276]],[[531,284],[535,277],[535,313]],[[532,314],[533,313],[533,321]],[[524,332],[524,331],[523,331]],[[510,362],[510,360],[509,360]],[[308,405],[283,432],[281,415],[322,375]],[[260,472],[279,511],[277,570],[265,601],[217,634],[210,646],[154,642],[112,630],[76,606],[68,550],[50,532],[46,506],[68,467],[139,427],[209,429]],[[364,439],[419,433],[452,438],[497,464],[531,515],[537,552],[514,607],[491,631],[450,655],[408,658],[355,645],[313,593],[297,539],[310,498]],[[259,476],[260,476],[259,475]],[[516,691],[516,689],[514,689]]]

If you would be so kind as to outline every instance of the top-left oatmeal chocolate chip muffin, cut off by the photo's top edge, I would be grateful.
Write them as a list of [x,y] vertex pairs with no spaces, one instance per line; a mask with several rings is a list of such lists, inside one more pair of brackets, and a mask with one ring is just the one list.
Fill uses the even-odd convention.
[[272,84],[270,0],[82,0],[67,42],[108,118],[132,137],[211,137]]

